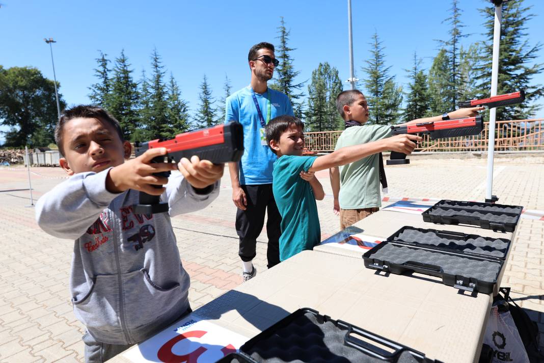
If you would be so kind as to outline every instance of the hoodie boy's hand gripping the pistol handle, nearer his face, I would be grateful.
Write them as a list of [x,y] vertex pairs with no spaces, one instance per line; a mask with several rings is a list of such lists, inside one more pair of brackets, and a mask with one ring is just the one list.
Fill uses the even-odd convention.
[[139,190],[150,195],[163,194],[164,188],[152,185],[164,185],[168,178],[156,176],[154,173],[176,170],[173,163],[151,163],[153,158],[166,155],[166,148],[150,149],[142,155],[110,169],[106,177],[106,189],[112,193],[121,193],[127,189]]

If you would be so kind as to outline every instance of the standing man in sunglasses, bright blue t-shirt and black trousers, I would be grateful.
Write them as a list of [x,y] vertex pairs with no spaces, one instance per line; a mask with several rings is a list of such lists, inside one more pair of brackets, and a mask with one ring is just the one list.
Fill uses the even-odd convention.
[[239,163],[228,163],[232,182],[232,201],[238,207],[236,231],[240,237],[238,255],[242,259],[244,281],[255,276],[252,264],[257,237],[268,211],[268,268],[280,263],[281,216],[272,192],[272,169],[276,155],[270,151],[264,127],[279,115],[293,115],[289,97],[268,88],[267,82],[279,64],[274,46],[262,42],[251,47],[248,55],[251,83],[226,100],[225,123],[238,121],[244,127],[244,155]]

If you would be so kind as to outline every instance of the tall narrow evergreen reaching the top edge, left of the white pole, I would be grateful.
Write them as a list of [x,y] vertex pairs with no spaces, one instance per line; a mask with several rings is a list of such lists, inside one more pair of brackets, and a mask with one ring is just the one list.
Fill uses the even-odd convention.
[[446,51],[448,57],[448,84],[447,88],[442,90],[442,93],[447,97],[450,103],[449,110],[454,110],[457,107],[460,97],[460,88],[462,87],[461,72],[459,69],[460,61],[460,40],[466,38],[468,34],[462,34],[461,28],[465,27],[461,20],[461,9],[458,7],[458,0],[452,0],[452,8],[450,9],[451,16],[443,22],[451,24],[449,30],[450,38],[446,41],[441,40],[442,48]]

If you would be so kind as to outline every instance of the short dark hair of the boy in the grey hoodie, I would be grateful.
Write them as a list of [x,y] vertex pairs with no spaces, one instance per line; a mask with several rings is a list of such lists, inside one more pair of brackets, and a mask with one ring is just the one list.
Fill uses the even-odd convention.
[[109,112],[107,112],[105,109],[100,108],[98,106],[88,105],[88,104],[80,104],[79,106],[74,106],[68,109],[65,109],[63,114],[60,116],[59,122],[57,122],[57,126],[55,127],[55,143],[57,144],[57,147],[59,148],[59,151],[61,155],[64,156],[64,146],[63,146],[63,129],[64,124],[66,122],[78,119],[78,118],[89,118],[89,119],[98,119],[104,122],[109,122],[114,128],[115,131],[117,131],[117,134],[119,135],[119,138],[121,141],[124,141],[125,138],[123,137],[123,131],[121,130],[121,125],[119,125],[119,121],[112,116]]

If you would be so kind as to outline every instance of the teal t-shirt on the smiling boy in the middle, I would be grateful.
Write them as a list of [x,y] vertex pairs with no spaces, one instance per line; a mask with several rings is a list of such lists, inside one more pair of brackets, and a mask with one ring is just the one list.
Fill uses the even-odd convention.
[[310,183],[300,177],[317,156],[283,155],[274,163],[274,199],[281,214],[280,260],[319,244],[321,227]]

